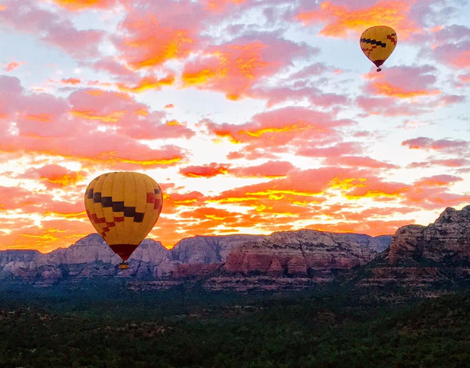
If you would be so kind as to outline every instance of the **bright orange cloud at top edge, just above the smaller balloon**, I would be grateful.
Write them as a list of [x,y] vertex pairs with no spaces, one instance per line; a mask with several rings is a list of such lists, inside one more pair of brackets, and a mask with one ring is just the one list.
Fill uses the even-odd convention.
[[406,39],[420,30],[408,18],[411,5],[410,1],[391,0],[377,1],[367,8],[352,9],[324,1],[318,10],[299,13],[297,20],[304,24],[327,23],[320,31],[320,35],[326,37],[345,38],[348,31],[360,34],[368,27],[386,24],[397,31],[399,39]]

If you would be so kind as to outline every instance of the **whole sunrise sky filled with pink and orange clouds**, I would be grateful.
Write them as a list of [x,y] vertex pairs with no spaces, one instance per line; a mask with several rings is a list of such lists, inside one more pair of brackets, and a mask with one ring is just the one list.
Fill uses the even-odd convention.
[[[0,0],[0,250],[95,232],[87,185],[164,191],[148,237],[394,234],[470,204],[466,0]],[[368,27],[395,29],[382,67]]]

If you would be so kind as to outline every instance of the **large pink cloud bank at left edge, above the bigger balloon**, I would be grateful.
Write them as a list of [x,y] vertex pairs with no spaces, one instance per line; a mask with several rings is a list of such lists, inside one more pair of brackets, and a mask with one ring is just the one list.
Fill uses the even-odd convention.
[[[138,138],[163,138],[166,134],[189,137],[186,127],[159,123],[148,126],[163,115],[154,113],[139,119],[146,105],[118,92],[86,89],[73,92],[69,101],[46,93],[26,94],[19,80],[0,77],[0,150],[36,152],[85,162],[109,165],[158,166],[180,161],[185,153],[175,145],[152,149]],[[72,106],[72,107],[71,107]],[[127,118],[126,123],[120,120]],[[158,120],[157,120],[158,121]],[[121,124],[121,125],[119,125]],[[110,126],[109,129],[102,129]],[[113,127],[117,129],[113,129]],[[122,166],[120,166],[122,167]]]

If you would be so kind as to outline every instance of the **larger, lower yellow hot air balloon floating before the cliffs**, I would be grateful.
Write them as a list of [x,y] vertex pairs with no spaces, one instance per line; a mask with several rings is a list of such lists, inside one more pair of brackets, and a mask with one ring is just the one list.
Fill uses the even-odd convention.
[[152,230],[162,211],[160,186],[136,172],[111,172],[98,176],[87,187],[85,208],[94,228],[114,253],[122,258],[119,269]]

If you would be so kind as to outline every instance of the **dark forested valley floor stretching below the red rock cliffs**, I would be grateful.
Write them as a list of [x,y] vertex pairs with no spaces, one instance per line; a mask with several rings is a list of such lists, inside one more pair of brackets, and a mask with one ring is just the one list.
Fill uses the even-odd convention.
[[396,303],[392,291],[377,298],[332,284],[240,295],[197,285],[134,293],[122,282],[3,285],[0,366],[470,365],[466,288]]

